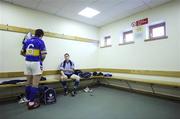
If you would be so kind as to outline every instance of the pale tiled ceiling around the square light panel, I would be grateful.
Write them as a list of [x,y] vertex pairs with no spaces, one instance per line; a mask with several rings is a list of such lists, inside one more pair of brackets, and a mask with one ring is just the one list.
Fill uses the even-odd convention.
[[[172,0],[2,0],[60,17],[101,27]],[[101,13],[93,18],[78,15],[85,7]]]

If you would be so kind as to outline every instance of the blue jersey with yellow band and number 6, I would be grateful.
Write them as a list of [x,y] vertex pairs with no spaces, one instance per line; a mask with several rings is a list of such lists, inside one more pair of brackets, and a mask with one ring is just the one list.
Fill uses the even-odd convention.
[[38,37],[28,39],[22,48],[25,51],[26,61],[40,61],[44,54],[47,54],[44,41]]

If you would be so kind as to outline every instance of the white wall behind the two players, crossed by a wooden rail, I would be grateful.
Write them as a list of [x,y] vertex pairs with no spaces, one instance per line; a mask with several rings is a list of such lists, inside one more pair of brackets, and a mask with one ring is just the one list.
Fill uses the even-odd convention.
[[[54,15],[0,1],[0,24],[75,35],[98,40],[98,28]],[[19,55],[25,34],[0,31],[0,72],[23,71],[24,58]],[[98,47],[93,43],[43,38],[47,47],[45,70],[57,69],[63,55],[69,52],[77,68],[94,68]]]

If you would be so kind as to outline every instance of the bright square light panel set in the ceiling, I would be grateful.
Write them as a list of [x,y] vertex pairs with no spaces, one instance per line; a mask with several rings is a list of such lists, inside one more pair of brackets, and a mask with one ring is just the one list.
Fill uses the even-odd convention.
[[85,9],[80,11],[78,14],[82,15],[82,16],[85,16],[85,17],[88,17],[88,18],[92,18],[92,17],[96,16],[99,13],[100,12],[95,10],[95,9],[92,9],[90,7],[86,7]]

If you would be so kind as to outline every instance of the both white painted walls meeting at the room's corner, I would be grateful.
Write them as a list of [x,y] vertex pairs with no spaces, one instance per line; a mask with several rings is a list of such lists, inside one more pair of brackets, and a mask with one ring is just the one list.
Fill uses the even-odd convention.
[[[77,68],[126,68],[144,70],[180,70],[180,1],[146,10],[112,24],[96,28],[54,15],[11,5],[0,1],[0,24],[102,39],[112,35],[113,46],[98,48],[95,44],[44,37],[48,55],[45,70],[57,69],[63,54],[69,52]],[[148,17],[150,23],[164,20],[168,39],[118,46],[121,32],[133,21]],[[24,59],[19,55],[24,34],[0,31],[0,72],[23,71]]]

